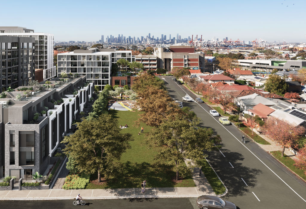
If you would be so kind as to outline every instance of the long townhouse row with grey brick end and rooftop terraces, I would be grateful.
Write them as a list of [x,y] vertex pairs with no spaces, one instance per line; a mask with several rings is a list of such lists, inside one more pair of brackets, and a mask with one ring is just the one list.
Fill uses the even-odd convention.
[[[42,82],[41,90],[27,95],[19,87],[0,99],[0,178],[32,180],[36,171],[43,174],[76,114],[92,97],[94,86],[86,83],[86,76],[59,79],[50,79],[47,86]],[[47,115],[35,121],[34,114],[42,110]]]

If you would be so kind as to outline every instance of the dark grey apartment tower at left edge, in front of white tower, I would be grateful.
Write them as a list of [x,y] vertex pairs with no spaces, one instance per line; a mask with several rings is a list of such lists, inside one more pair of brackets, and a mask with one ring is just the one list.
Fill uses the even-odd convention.
[[34,79],[34,46],[34,38],[0,35],[0,93]]

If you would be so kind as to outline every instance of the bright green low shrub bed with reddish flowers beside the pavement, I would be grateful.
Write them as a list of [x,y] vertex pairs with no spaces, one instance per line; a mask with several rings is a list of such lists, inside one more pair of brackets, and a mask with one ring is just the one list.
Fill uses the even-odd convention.
[[65,180],[65,184],[63,185],[63,189],[85,189],[86,185],[89,183],[90,175],[80,176],[76,175],[68,175]]

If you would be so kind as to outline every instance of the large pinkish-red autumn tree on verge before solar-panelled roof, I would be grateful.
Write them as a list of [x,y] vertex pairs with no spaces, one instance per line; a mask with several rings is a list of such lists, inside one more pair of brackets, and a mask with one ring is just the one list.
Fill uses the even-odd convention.
[[285,148],[296,148],[298,138],[305,133],[305,128],[296,126],[275,117],[268,117],[262,127],[262,131],[273,141],[283,147],[282,157],[284,156]]

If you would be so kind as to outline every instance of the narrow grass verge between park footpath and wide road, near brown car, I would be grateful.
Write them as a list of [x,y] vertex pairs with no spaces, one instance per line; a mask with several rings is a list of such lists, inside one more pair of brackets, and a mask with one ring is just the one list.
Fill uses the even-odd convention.
[[216,195],[223,194],[225,192],[225,187],[216,175],[215,171],[211,168],[211,166],[207,163],[207,161],[203,161],[202,172],[205,174],[207,181],[210,183],[212,189],[216,193]]

